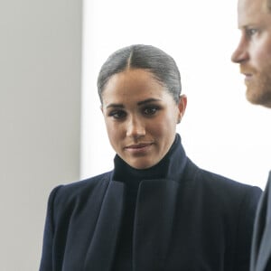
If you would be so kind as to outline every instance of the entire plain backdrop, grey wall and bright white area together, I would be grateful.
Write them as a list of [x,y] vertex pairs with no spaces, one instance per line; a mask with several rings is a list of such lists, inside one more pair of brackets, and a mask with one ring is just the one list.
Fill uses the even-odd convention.
[[158,46],[178,63],[188,96],[178,132],[192,160],[264,187],[271,114],[248,104],[229,60],[238,42],[236,5],[1,1],[0,271],[38,269],[54,186],[112,168],[96,79],[107,56],[132,43]]

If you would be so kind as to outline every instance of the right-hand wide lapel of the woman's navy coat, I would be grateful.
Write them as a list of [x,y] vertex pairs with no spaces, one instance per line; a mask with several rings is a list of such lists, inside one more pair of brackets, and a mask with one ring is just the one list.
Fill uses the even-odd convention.
[[135,271],[164,270],[172,238],[178,186],[178,182],[169,180],[141,182],[135,210]]

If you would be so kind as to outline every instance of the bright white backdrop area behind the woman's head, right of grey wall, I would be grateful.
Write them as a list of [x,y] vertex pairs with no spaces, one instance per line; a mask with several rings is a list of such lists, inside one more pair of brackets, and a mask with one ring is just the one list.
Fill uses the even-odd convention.
[[188,107],[178,132],[201,167],[264,187],[271,169],[271,111],[251,106],[230,56],[237,1],[85,1],[81,177],[110,170],[114,152],[99,111],[96,79],[107,56],[132,43],[170,53]]

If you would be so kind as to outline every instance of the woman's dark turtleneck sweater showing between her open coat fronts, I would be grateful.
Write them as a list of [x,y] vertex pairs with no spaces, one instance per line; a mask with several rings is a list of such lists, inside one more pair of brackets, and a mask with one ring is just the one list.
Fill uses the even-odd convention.
[[118,155],[114,163],[115,170],[113,180],[126,183],[125,210],[122,220],[122,227],[117,243],[117,252],[113,271],[133,270],[133,231],[135,218],[136,196],[139,183],[142,180],[163,179],[169,171],[171,156],[180,144],[180,138],[176,135],[172,147],[164,158],[153,167],[137,170],[126,164]]

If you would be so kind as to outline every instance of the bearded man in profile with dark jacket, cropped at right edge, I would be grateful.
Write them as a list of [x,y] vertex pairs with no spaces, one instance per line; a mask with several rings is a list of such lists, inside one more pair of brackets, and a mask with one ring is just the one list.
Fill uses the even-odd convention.
[[[271,0],[238,0],[238,28],[241,38],[231,60],[245,75],[248,101],[271,108]],[[271,270],[271,172],[258,204],[250,262],[250,271],[267,270]]]

